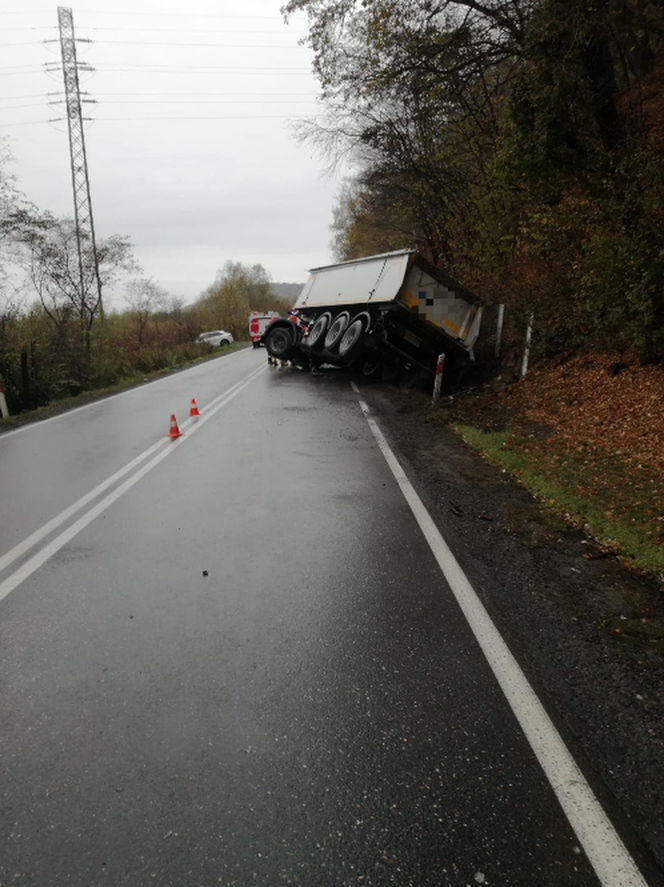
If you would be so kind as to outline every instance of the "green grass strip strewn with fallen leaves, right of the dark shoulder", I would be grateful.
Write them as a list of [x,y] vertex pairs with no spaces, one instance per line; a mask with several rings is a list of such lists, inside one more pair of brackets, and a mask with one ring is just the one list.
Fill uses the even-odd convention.
[[586,529],[631,566],[664,578],[664,481],[652,469],[612,454],[589,457],[583,447],[570,455],[551,439],[514,428],[452,427],[555,513]]

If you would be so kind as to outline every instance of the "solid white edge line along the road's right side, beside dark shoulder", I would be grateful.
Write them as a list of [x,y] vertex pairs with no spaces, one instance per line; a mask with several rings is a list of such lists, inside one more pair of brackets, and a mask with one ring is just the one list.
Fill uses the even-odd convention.
[[[351,382],[351,385],[359,396],[355,383]],[[381,453],[595,874],[604,887],[648,887],[544,706],[408,480],[378,424],[371,417],[369,407],[361,399],[359,403]]]

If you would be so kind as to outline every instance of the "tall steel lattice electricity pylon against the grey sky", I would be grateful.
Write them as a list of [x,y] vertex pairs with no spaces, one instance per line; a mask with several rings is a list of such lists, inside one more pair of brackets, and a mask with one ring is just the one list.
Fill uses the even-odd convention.
[[[99,313],[103,317],[104,307],[101,295],[101,280],[99,278],[99,263],[97,260],[95,223],[92,215],[92,200],[90,199],[90,178],[88,176],[88,158],[85,152],[81,91],[78,82],[74,16],[69,7],[58,6],[58,26],[60,28],[62,74],[65,81],[67,125],[69,127],[69,156],[71,160],[71,181],[74,191],[74,223],[76,225],[79,284],[81,288],[81,317],[90,311],[90,308],[94,311],[96,307],[99,308]],[[89,302],[85,281],[86,243],[91,249],[91,258],[94,266],[93,292],[96,289],[96,293],[94,293]]]

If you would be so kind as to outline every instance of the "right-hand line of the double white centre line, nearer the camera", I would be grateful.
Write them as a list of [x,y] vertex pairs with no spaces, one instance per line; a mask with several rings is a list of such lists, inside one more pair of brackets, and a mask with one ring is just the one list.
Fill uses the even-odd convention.
[[[116,487],[112,493],[109,493],[104,499],[94,505],[88,512],[86,512],[82,517],[80,517],[77,521],[67,527],[64,532],[60,533],[59,536],[56,536],[51,542],[45,545],[40,551],[34,554],[31,558],[29,558],[24,564],[22,564],[17,570],[15,570],[10,576],[7,577],[3,582],[0,582],[0,601],[7,597],[15,588],[17,588],[21,582],[24,582],[29,576],[31,576],[36,570],[38,570],[41,566],[43,566],[49,558],[53,557],[61,548],[63,548],[68,542],[70,542],[81,530],[84,530],[90,523],[92,523],[95,518],[99,517],[104,511],[106,511],[109,506],[111,506],[114,502],[123,496],[128,490],[130,490],[133,486],[135,486],[141,478],[145,477],[153,468],[156,468],[160,462],[162,462],[167,456],[169,456],[175,449],[182,446],[188,440],[191,440],[193,434],[199,431],[206,422],[208,422],[219,410],[223,409],[228,403],[230,403],[238,394],[240,394],[244,389],[250,385],[254,379],[257,379],[258,376],[262,372],[265,371],[267,365],[263,365],[258,369],[254,370],[248,376],[246,376],[241,382],[238,382],[228,391],[224,392],[224,394],[220,395],[216,401],[213,401],[214,406],[209,405],[205,409],[205,414],[197,417],[191,424],[191,426],[187,430],[187,434],[182,437],[178,437],[176,440],[168,441],[167,445],[161,449],[161,452],[157,453],[153,456],[150,461],[136,471],[131,477],[129,477],[123,484],[120,484],[119,487]],[[183,423],[184,427],[184,423]],[[147,451],[146,451],[147,452]],[[145,456],[145,454],[144,454]]]

